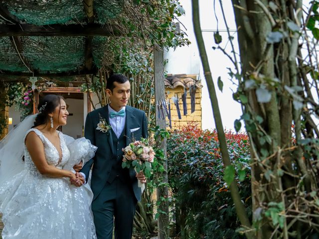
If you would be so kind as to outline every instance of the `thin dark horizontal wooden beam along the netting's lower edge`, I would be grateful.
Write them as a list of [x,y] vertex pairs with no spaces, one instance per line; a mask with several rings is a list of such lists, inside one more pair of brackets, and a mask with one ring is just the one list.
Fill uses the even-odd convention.
[[97,69],[93,68],[91,71],[80,70],[80,71],[68,71],[68,72],[59,72],[59,73],[27,73],[27,72],[12,72],[0,70],[0,80],[5,79],[5,76],[46,76],[46,77],[67,77],[67,76],[85,76],[85,75],[96,75]]

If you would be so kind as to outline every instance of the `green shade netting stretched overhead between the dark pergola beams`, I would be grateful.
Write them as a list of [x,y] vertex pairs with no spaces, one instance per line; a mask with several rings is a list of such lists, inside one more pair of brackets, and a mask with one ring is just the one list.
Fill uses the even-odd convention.
[[[22,23],[86,24],[87,20],[82,0],[0,0],[0,3]],[[119,15],[124,0],[94,0],[93,6],[95,22],[105,24]],[[0,19],[0,23],[4,22]],[[107,41],[107,37],[93,38],[93,59],[98,68],[102,67]],[[76,71],[84,64],[85,37],[23,36],[21,42],[22,55],[40,73]],[[0,70],[29,72],[9,37],[0,37]]]

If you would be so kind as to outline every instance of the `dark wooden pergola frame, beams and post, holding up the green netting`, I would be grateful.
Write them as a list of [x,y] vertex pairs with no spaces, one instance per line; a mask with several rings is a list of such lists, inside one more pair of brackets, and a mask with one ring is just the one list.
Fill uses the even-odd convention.
[[[20,71],[12,71],[0,67],[0,102],[4,102],[4,85],[5,81],[26,82],[28,77],[50,77],[51,79],[58,79],[65,76],[85,77],[87,75],[96,75],[99,71],[94,62],[93,57],[93,39],[96,36],[121,36],[121,32],[113,25],[97,23],[94,14],[93,0],[83,0],[83,10],[86,14],[85,20],[78,23],[71,24],[43,24],[36,25],[25,22],[25,19],[19,19],[16,15],[10,12],[7,6],[0,3],[0,39],[9,38],[11,47],[14,49],[15,54],[18,56],[18,64],[23,65],[25,68]],[[54,69],[46,70],[34,67],[32,60],[25,54],[26,45],[23,42],[23,37],[84,37],[84,59],[82,64],[79,64],[76,69],[65,71],[54,71]],[[165,99],[164,91],[164,78],[163,78],[163,51],[160,48],[154,49],[154,64],[155,64],[155,88],[156,88],[156,102]],[[77,89],[71,88],[51,88],[51,93],[73,92]],[[38,104],[38,94],[34,94],[34,113],[36,113],[36,106]],[[88,104],[90,105],[90,104]],[[91,107],[91,105],[90,105]],[[91,108],[88,107],[88,112]],[[0,105],[0,114],[3,117],[5,112],[4,105]],[[158,111],[156,111],[158,114]],[[165,127],[165,119],[156,116],[157,124],[160,128]],[[166,154],[166,141],[161,141],[161,147]],[[165,164],[167,169],[167,164]],[[164,182],[167,182],[167,175],[164,175]],[[159,192],[159,197],[167,197],[167,188]],[[162,214],[159,219],[159,238],[165,237],[165,224],[168,222],[168,207],[162,208],[162,211],[167,211],[167,216]]]

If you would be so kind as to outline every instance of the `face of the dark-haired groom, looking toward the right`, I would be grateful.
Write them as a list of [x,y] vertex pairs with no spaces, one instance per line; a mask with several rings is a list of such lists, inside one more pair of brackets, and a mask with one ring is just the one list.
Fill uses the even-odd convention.
[[114,89],[106,89],[111,102],[111,106],[114,110],[120,110],[122,107],[128,104],[128,100],[131,94],[131,84],[129,81],[120,84],[114,82]]

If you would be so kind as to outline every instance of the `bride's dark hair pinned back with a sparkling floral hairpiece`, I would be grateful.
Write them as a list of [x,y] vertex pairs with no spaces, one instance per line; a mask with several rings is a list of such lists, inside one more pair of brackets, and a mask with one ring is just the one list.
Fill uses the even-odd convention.
[[64,98],[58,95],[44,96],[38,105],[39,113],[34,120],[32,128],[41,124],[46,124],[49,121],[49,114],[53,113],[55,108],[60,106],[61,100],[64,100]]

